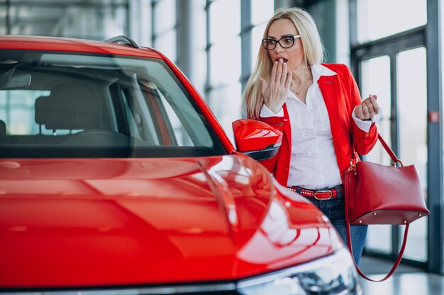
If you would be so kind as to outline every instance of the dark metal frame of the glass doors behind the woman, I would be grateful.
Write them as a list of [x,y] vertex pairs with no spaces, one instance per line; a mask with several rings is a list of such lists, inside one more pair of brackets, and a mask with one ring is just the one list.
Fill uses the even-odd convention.
[[[426,240],[427,260],[419,262],[408,258],[403,258],[403,262],[408,265],[419,267],[428,272],[444,274],[444,240],[443,240],[443,123],[442,123],[442,92],[440,87],[441,64],[439,40],[439,19],[440,4],[439,0],[428,1],[426,25],[407,30],[395,35],[383,37],[379,40],[359,44],[357,42],[357,1],[350,0],[350,58],[351,69],[358,86],[362,85],[360,77],[360,62],[365,59],[371,59],[382,55],[390,57],[391,68],[391,97],[392,97],[392,122],[391,136],[392,149],[395,153],[399,152],[399,122],[397,119],[398,106],[396,104],[397,85],[396,85],[396,54],[404,50],[411,50],[416,47],[426,48],[427,59],[427,149],[428,149],[428,170],[427,170],[427,189],[428,189],[428,208],[431,210],[431,216],[428,218],[428,234]],[[438,61],[438,62],[437,62]],[[432,111],[438,111],[440,120],[431,122],[430,114]],[[436,161],[436,160],[440,161]],[[435,161],[433,161],[435,160]],[[392,253],[388,255],[365,249],[367,255],[394,260],[399,250],[400,244],[399,226],[393,226],[392,230]]]

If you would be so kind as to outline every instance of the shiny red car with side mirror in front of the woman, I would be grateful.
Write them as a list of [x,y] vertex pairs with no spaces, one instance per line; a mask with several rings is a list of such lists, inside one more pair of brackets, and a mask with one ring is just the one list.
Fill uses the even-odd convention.
[[361,294],[259,162],[282,134],[238,120],[236,149],[160,52],[1,36],[0,106],[0,294]]

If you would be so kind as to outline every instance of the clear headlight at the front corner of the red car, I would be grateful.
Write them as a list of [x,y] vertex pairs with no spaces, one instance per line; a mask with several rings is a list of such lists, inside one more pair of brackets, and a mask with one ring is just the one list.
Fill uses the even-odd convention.
[[362,294],[350,253],[341,248],[326,258],[238,282],[243,295]]

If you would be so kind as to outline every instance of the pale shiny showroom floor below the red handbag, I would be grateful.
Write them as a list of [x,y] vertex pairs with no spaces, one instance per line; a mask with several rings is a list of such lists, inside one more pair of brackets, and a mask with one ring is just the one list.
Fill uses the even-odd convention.
[[[391,265],[384,260],[363,256],[360,268],[371,279],[381,279]],[[443,295],[444,276],[421,272],[414,267],[400,265],[392,277],[384,282],[361,279],[364,295]]]

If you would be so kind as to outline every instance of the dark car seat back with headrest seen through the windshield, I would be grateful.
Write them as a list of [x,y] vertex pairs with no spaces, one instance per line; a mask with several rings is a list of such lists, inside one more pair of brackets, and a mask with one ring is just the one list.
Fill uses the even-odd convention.
[[101,104],[92,83],[70,80],[52,88],[49,97],[35,100],[35,122],[46,129],[98,129]]

